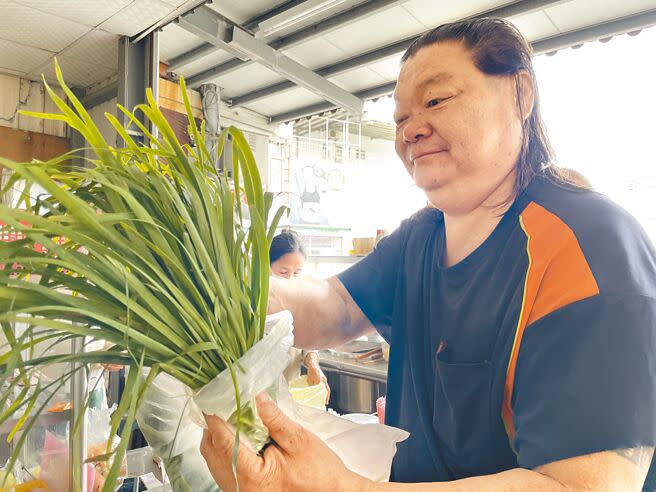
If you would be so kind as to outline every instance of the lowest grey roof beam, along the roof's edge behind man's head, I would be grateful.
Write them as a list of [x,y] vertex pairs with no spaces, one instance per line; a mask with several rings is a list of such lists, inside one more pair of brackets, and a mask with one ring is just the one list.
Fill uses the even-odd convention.
[[[531,43],[531,46],[533,47],[534,55],[540,55],[609,36],[645,29],[654,25],[656,25],[656,9],[534,41]],[[396,82],[389,82],[356,92],[355,95],[364,100],[375,99],[376,97],[392,94],[395,86]],[[284,123],[326,111],[332,111],[333,109],[337,109],[337,107],[328,103],[314,104],[274,115],[270,118],[270,121],[272,124]]]

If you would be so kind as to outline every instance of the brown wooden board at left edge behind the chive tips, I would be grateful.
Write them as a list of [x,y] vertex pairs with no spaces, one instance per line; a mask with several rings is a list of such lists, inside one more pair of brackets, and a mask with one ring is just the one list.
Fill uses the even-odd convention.
[[44,161],[69,150],[66,138],[0,126],[0,157],[17,162]]

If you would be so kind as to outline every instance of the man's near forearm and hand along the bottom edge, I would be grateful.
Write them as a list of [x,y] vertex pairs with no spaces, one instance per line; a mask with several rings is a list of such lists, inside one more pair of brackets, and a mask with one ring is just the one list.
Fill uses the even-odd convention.
[[[266,395],[257,399],[258,414],[275,443],[262,455],[242,444],[237,460],[240,490],[385,492],[640,492],[653,447],[604,451],[569,458],[535,470],[513,470],[453,482],[375,483],[344,466],[316,435],[289,419]],[[232,473],[234,430],[218,417],[206,417],[201,453],[224,491],[236,490]]]

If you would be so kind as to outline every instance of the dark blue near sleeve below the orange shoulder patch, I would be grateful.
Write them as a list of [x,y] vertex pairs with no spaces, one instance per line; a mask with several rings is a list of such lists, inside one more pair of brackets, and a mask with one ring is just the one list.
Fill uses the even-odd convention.
[[526,468],[656,445],[656,299],[598,295],[529,325],[513,415]]

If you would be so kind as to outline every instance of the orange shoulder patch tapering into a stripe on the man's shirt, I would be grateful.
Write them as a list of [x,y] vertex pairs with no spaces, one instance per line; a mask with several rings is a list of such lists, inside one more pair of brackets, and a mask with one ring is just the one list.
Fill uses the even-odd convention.
[[511,402],[524,330],[549,313],[599,294],[597,281],[567,224],[535,202],[526,207],[519,220],[526,234],[529,265],[501,410],[511,443],[515,438]]

